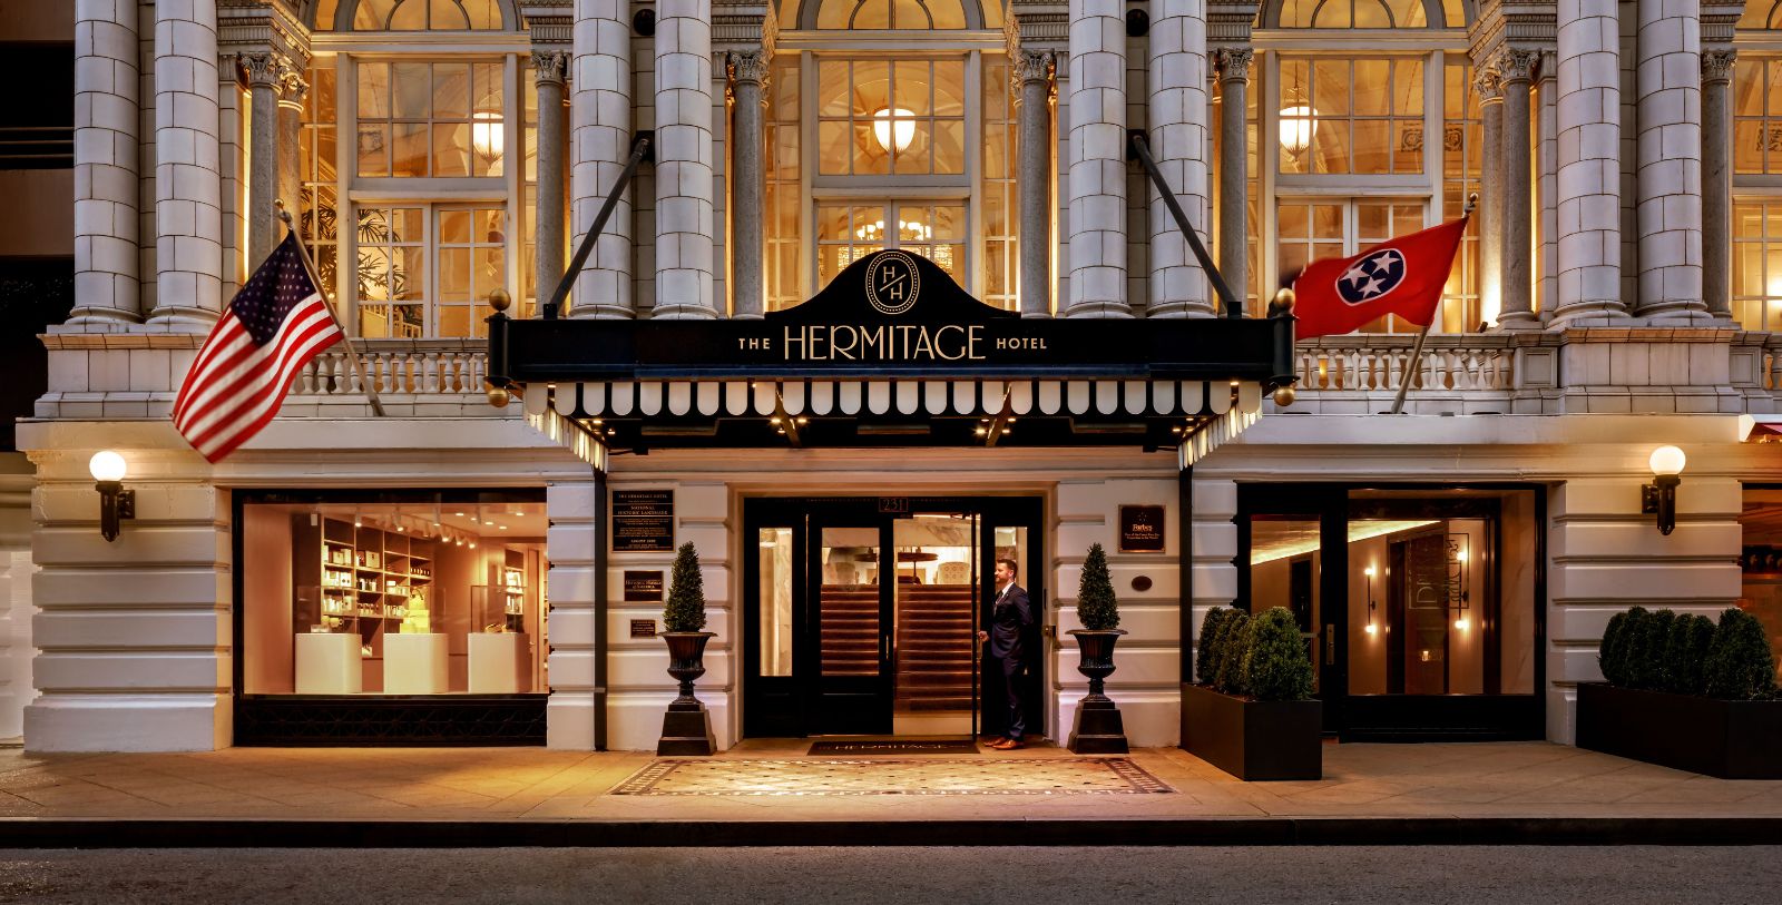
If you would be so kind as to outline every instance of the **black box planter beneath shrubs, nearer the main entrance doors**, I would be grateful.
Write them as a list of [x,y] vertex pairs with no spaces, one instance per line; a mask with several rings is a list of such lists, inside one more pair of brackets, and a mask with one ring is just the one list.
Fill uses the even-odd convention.
[[1181,686],[1181,746],[1242,780],[1324,779],[1324,704]]

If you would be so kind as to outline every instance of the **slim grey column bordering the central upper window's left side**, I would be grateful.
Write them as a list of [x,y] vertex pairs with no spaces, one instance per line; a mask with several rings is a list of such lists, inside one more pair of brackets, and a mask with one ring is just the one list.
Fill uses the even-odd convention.
[[731,135],[731,315],[759,319],[766,310],[766,135],[763,110],[768,78],[764,52],[731,57],[736,132]]

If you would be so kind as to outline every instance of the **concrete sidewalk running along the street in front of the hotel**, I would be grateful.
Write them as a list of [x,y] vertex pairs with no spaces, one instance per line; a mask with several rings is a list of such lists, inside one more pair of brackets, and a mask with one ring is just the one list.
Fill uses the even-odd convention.
[[[0,752],[0,844],[1007,844],[1695,841],[1782,843],[1782,782],[1718,780],[1549,743],[1326,745],[1319,782],[1238,782],[1174,748],[1133,752],[1165,793],[1057,791],[1069,752],[775,761],[775,787],[615,795],[649,754],[538,748]],[[846,764],[843,764],[843,761]],[[1010,762],[1014,761],[1014,762]],[[914,787],[946,770],[946,789]],[[756,764],[750,764],[756,766]],[[1062,773],[1060,773],[1062,775]],[[900,779],[898,779],[900,777]],[[1012,779],[1041,791],[1014,793]],[[898,782],[903,786],[900,787]],[[634,784],[636,786],[636,784]],[[691,789],[691,791],[688,791]],[[700,791],[704,789],[704,791]],[[392,825],[394,823],[394,825]]]

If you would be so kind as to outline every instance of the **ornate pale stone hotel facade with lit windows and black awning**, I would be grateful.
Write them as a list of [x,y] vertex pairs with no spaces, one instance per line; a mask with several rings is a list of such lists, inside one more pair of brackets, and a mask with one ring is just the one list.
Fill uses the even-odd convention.
[[[53,208],[4,276],[64,299],[0,467],[30,750],[654,748],[686,542],[720,748],[1001,729],[1001,558],[1064,738],[1092,543],[1144,746],[1233,602],[1299,616],[1340,739],[1570,743],[1631,606],[1782,648],[1768,0],[46,5],[71,153],[0,164]],[[1281,274],[1472,194],[1415,367],[1394,317],[1278,333]],[[210,465],[169,408],[274,201],[358,362]],[[866,362],[886,262],[921,333]]]

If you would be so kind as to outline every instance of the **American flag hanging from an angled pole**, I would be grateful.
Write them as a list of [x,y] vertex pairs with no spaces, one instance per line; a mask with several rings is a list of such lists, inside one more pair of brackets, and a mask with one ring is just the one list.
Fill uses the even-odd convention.
[[340,338],[298,239],[285,235],[198,349],[173,428],[207,460],[228,456],[273,420],[298,369]]

